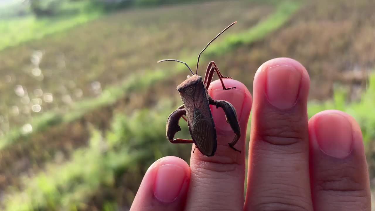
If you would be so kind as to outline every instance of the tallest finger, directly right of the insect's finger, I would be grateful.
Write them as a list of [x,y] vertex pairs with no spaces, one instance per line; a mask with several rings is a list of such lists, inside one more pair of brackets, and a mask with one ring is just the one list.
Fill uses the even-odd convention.
[[296,60],[272,59],[254,78],[245,210],[312,210],[307,98]]

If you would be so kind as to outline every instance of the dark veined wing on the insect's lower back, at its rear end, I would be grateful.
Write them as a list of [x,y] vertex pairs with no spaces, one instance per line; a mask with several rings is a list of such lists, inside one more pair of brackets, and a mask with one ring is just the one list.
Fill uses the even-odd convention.
[[192,137],[202,154],[210,156],[216,151],[216,137],[211,118],[204,116],[198,108],[194,108]]

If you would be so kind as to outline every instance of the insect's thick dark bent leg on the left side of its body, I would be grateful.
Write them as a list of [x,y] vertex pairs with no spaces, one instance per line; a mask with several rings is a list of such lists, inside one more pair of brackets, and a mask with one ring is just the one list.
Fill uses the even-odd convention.
[[186,110],[177,109],[168,117],[166,122],[166,138],[171,143],[194,143],[192,139],[174,139],[174,135],[181,130],[178,122],[183,115],[186,115]]

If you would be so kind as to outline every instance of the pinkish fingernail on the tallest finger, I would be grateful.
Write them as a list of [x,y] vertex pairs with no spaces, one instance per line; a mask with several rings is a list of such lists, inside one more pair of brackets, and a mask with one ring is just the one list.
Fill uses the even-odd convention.
[[289,109],[297,101],[301,73],[289,65],[277,65],[267,69],[266,95],[268,101],[279,109]]

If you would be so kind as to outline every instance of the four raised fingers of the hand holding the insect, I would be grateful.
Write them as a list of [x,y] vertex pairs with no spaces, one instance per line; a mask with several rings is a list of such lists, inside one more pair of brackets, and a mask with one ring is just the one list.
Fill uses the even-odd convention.
[[[336,110],[308,119],[310,79],[299,62],[265,62],[255,75],[253,96],[239,81],[224,83],[237,89],[222,90],[217,80],[208,92],[234,105],[243,134],[252,112],[248,163],[245,153],[229,148],[233,131],[223,112],[211,106],[217,128],[215,156],[195,151],[190,165],[178,157],[157,160],[145,174],[131,211],[371,210],[360,127]],[[245,139],[235,145],[243,152]]]

